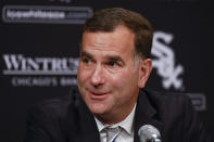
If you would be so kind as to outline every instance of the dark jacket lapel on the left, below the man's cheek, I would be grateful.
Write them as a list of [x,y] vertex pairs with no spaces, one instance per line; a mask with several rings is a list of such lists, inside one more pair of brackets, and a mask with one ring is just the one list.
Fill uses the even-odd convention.
[[93,115],[80,98],[77,88],[72,88],[71,106],[65,118],[66,142],[100,142],[100,134]]

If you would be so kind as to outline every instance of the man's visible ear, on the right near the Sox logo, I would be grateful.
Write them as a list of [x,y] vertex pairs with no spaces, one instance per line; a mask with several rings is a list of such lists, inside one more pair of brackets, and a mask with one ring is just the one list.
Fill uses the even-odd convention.
[[152,70],[152,60],[151,59],[142,60],[139,65],[139,78],[138,78],[139,88],[143,88],[146,86],[146,82],[150,76],[151,70]]

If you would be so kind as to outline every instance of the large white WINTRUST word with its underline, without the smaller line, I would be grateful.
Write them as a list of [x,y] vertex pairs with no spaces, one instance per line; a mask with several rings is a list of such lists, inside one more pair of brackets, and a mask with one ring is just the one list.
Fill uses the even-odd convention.
[[22,54],[3,54],[4,75],[76,75],[78,59],[26,57]]

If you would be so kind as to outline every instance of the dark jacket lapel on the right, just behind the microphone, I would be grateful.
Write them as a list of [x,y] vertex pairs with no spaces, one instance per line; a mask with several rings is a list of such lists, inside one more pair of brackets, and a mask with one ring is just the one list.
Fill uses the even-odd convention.
[[138,130],[143,125],[152,125],[163,135],[163,124],[159,120],[156,111],[151,105],[148,94],[140,90],[134,121],[134,142],[140,142]]

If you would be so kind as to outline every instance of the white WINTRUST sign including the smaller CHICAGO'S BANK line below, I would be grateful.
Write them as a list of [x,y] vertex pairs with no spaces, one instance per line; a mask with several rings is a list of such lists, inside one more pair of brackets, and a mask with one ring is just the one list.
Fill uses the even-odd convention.
[[2,74],[13,87],[76,86],[78,57],[32,57],[23,54],[3,54]]

